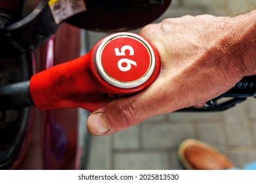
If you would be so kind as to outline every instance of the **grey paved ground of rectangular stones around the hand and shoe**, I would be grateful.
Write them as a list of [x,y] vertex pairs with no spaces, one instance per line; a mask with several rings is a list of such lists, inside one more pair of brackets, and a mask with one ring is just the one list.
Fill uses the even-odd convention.
[[[173,7],[163,17],[211,12],[224,15],[226,10],[219,8],[223,2],[226,6],[230,5],[232,10],[249,7],[239,7],[241,1],[232,1],[238,3],[236,6],[230,1],[202,1],[202,5],[190,7],[186,2],[173,1]],[[188,1],[191,2],[201,1]],[[250,2],[256,4],[255,1]],[[213,6],[206,3],[212,3]],[[94,45],[105,35],[89,33],[90,44]],[[177,148],[188,138],[200,139],[215,146],[238,167],[242,167],[256,160],[255,111],[256,100],[251,98],[225,112],[173,112],[156,116],[114,135],[92,137],[88,169],[182,169],[177,158]]]

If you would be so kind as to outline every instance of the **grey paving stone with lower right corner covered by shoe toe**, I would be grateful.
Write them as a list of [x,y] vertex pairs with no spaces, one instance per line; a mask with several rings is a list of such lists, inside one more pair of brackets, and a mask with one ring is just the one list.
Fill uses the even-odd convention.
[[192,124],[142,125],[143,148],[177,148],[182,141],[193,137]]

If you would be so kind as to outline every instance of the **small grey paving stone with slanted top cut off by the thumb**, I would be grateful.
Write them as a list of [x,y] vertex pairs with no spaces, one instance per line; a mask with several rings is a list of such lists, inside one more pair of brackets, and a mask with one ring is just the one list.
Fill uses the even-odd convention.
[[139,125],[135,125],[114,134],[114,148],[116,150],[131,150],[139,148]]

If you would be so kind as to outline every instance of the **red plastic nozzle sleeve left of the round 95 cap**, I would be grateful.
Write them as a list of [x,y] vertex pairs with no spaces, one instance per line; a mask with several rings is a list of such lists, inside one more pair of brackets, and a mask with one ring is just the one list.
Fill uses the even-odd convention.
[[41,110],[63,107],[83,107],[93,111],[108,103],[102,87],[93,76],[91,52],[67,63],[56,65],[30,81],[34,105]]

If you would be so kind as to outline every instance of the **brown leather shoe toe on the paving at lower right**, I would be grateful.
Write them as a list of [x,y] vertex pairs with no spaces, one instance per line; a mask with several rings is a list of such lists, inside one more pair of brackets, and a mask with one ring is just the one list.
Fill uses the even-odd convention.
[[184,167],[190,170],[222,170],[234,167],[233,163],[215,148],[195,139],[181,143],[179,158]]

